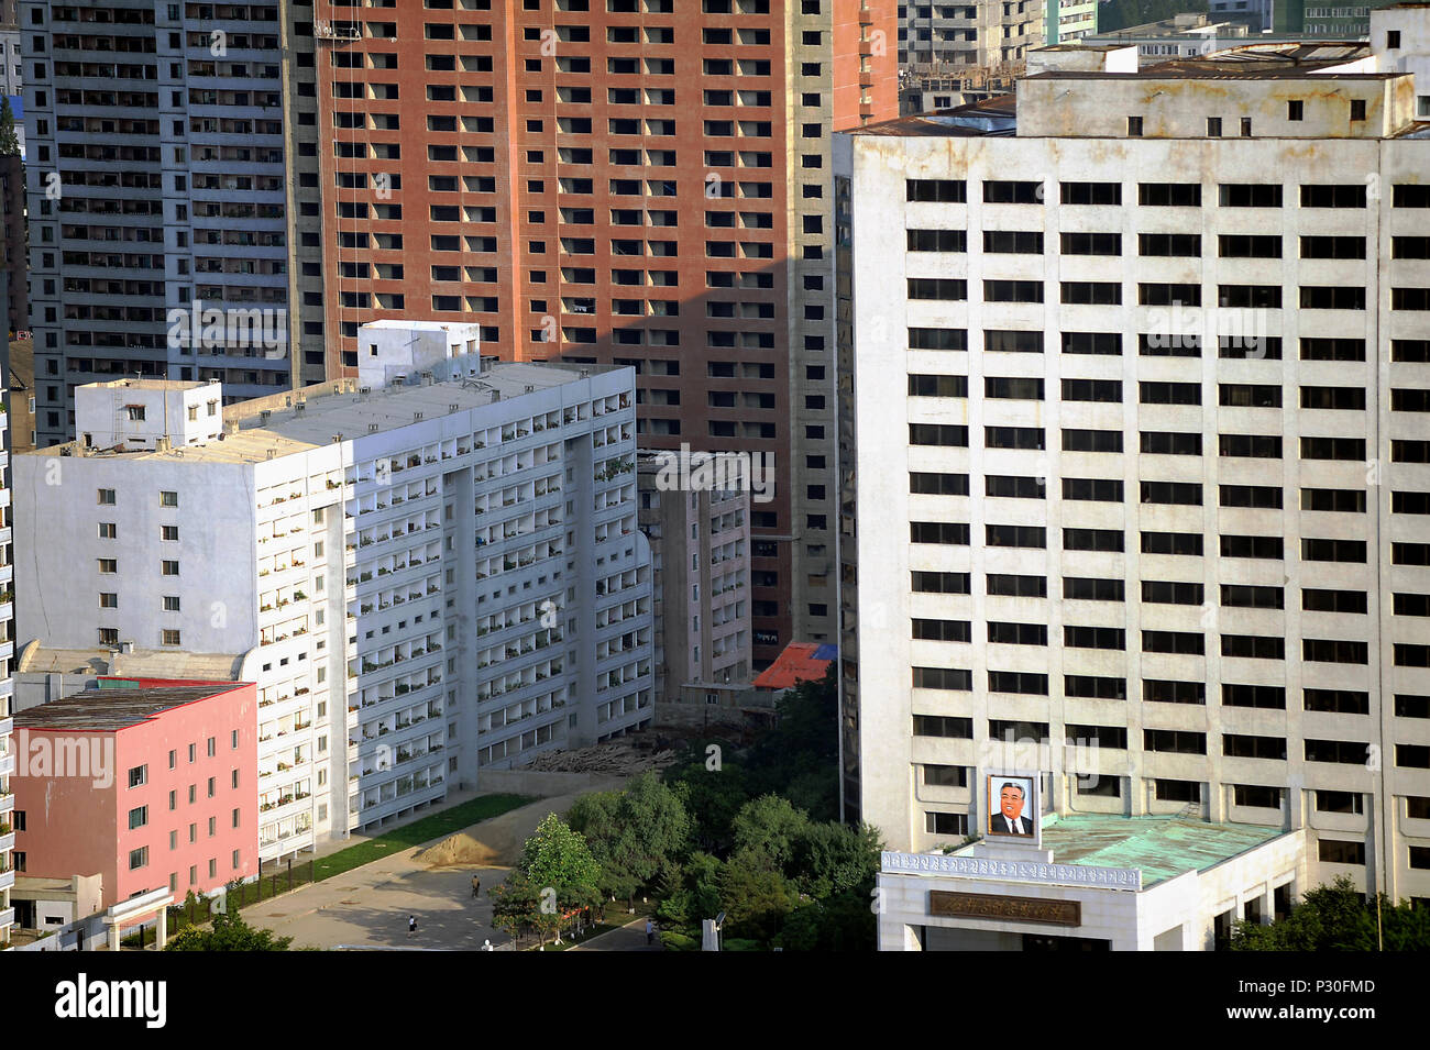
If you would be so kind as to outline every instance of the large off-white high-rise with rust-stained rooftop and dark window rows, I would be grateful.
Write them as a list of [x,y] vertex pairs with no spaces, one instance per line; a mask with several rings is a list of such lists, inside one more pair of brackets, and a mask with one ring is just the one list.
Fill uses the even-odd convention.
[[845,806],[892,849],[1017,761],[1430,897],[1430,23],[1391,13],[1051,51],[1015,133],[841,140]]

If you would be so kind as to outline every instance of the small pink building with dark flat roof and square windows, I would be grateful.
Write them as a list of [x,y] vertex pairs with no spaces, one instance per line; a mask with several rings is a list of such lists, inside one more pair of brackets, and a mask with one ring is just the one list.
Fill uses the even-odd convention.
[[256,710],[253,683],[140,680],[19,711],[16,870],[97,873],[104,907],[256,876]]

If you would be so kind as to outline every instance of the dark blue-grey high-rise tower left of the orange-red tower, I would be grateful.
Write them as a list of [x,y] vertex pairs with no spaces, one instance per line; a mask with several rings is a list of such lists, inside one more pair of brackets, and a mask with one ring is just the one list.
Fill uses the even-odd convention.
[[323,377],[310,10],[21,0],[41,447],[93,380]]

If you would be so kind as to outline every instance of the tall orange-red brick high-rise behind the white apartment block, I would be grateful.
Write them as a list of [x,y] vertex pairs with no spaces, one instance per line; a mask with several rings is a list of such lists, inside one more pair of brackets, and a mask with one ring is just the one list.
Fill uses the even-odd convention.
[[313,14],[329,373],[412,316],[635,367],[642,447],[775,457],[755,663],[832,637],[829,130],[898,113],[892,1]]

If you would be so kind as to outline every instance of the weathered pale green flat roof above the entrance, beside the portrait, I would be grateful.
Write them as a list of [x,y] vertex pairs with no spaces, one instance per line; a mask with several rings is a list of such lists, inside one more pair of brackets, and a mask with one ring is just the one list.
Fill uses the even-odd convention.
[[1042,849],[1052,850],[1054,863],[1137,867],[1144,889],[1184,871],[1205,871],[1283,834],[1280,827],[1177,817],[1050,814],[1042,821]]

